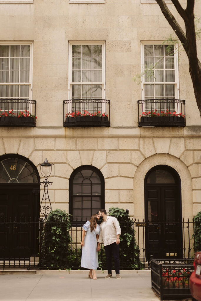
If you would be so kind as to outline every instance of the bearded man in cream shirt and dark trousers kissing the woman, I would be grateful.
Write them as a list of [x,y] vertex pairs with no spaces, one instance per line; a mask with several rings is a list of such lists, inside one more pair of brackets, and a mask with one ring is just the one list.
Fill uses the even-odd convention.
[[106,264],[108,268],[108,275],[105,279],[112,277],[112,253],[115,261],[116,278],[121,279],[119,274],[119,236],[121,234],[121,228],[118,220],[113,216],[107,216],[105,209],[99,211],[99,217],[102,219],[100,224],[100,235],[98,239],[97,251],[100,251],[100,244],[103,242]]

